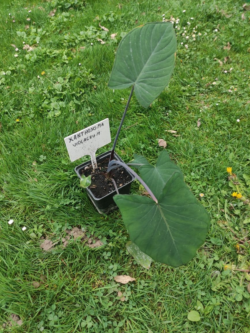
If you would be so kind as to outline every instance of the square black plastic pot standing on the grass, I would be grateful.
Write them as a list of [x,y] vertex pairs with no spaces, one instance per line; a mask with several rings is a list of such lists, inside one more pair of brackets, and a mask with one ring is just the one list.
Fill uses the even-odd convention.
[[[110,156],[110,154],[111,154],[111,150],[99,155],[96,158],[97,165],[98,165],[98,163],[105,160],[108,156]],[[118,156],[116,153],[114,154],[114,156],[117,160],[123,162],[123,160],[120,158],[120,156]],[[75,171],[80,179],[81,179],[81,175],[83,174],[83,170],[85,169],[86,166],[89,166],[89,165],[92,165],[91,160],[75,167]],[[127,170],[124,170],[124,172],[127,172],[129,174],[131,180],[127,184],[124,184],[123,186],[119,187],[119,193],[120,194],[129,194],[131,182],[134,180],[134,176]],[[88,187],[85,188],[85,190],[86,190],[89,198],[93,202],[94,206],[99,211],[99,213],[108,214],[108,213],[118,209],[115,201],[113,200],[113,196],[115,194],[117,194],[116,190],[103,196],[102,198],[96,198]]]

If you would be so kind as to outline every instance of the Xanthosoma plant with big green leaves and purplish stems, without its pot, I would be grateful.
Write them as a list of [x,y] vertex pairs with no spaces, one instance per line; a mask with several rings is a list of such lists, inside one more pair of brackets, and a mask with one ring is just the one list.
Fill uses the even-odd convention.
[[[180,168],[166,151],[161,152],[155,167],[143,156],[135,154],[128,165],[137,167],[139,176],[115,155],[115,147],[133,91],[140,105],[147,108],[167,86],[175,55],[176,37],[170,22],[146,23],[131,30],[120,42],[108,86],[111,89],[132,86],[132,89],[107,171],[101,171],[106,179],[114,180],[117,172],[126,170],[143,184],[150,198],[124,195],[117,184],[114,185],[113,199],[129,232],[130,249],[132,245],[133,255],[137,257],[146,254],[173,267],[186,264],[194,257],[205,241],[209,215],[189,191]],[[86,177],[86,174],[81,182],[84,187],[93,183],[91,176]]]

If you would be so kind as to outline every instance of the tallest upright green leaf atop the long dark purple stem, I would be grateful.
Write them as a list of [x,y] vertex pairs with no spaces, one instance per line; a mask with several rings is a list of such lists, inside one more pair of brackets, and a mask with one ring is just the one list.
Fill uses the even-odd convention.
[[176,37],[172,23],[141,25],[121,40],[108,86],[124,89],[134,84],[138,102],[147,108],[167,86],[175,55]]

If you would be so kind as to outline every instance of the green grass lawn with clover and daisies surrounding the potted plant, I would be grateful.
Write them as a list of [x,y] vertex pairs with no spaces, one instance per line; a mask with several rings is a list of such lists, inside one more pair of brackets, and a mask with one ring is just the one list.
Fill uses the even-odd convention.
[[[231,196],[226,170],[247,196],[250,4],[243,5],[1,1],[0,332],[250,332],[249,205]],[[152,262],[147,270],[126,250],[119,210],[99,214],[79,187],[74,168],[89,157],[71,163],[64,138],[109,118],[114,139],[130,91],[107,87],[116,48],[162,14],[175,20],[173,76],[148,109],[133,95],[116,151],[126,163],[133,153],[155,163],[165,140],[211,228],[187,265]],[[132,193],[141,191],[134,181]],[[71,237],[64,247],[65,229],[74,227],[86,241]],[[41,234],[57,242],[50,251]],[[104,245],[86,246],[94,237]],[[117,283],[117,274],[135,281]],[[190,311],[200,319],[190,321]],[[10,323],[13,314],[21,326]]]

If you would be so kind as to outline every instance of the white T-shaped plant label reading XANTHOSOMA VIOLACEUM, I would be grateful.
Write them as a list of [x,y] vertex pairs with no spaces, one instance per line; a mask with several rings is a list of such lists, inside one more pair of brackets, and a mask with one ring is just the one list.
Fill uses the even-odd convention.
[[96,151],[111,142],[110,123],[106,118],[64,138],[71,162],[85,155],[91,158],[93,169],[97,168]]

